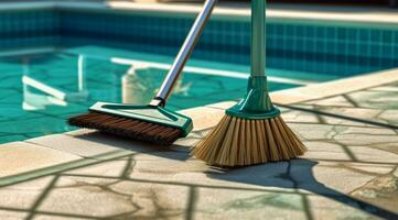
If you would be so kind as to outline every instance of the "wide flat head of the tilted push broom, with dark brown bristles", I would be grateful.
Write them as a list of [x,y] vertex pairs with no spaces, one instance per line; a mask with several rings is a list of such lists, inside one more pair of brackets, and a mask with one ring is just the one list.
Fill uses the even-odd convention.
[[97,102],[86,114],[68,119],[71,125],[170,145],[193,129],[189,117],[155,106]]

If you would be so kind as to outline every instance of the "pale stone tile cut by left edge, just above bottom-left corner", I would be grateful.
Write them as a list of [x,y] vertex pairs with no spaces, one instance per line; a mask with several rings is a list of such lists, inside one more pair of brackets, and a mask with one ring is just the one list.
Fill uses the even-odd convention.
[[[53,177],[43,177],[40,179],[1,187],[0,210],[1,208],[31,209],[52,178]],[[0,219],[2,219],[1,211]]]

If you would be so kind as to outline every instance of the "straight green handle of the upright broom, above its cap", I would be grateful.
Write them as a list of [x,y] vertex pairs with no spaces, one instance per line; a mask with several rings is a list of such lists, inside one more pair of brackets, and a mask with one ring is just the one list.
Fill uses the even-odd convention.
[[266,75],[266,0],[251,0],[251,76]]

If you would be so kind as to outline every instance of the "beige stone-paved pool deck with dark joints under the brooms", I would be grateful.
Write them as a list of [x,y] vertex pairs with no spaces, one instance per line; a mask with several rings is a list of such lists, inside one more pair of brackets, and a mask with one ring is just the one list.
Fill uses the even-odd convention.
[[309,147],[299,160],[192,158],[234,102],[185,110],[195,130],[172,147],[88,130],[0,145],[0,219],[398,219],[396,69],[272,98]]

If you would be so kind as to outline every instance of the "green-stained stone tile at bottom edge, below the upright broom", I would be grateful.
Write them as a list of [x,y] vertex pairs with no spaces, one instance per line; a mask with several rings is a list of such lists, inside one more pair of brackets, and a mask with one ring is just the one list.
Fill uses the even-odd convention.
[[194,219],[306,219],[298,194],[200,188],[194,196]]

